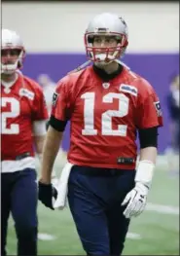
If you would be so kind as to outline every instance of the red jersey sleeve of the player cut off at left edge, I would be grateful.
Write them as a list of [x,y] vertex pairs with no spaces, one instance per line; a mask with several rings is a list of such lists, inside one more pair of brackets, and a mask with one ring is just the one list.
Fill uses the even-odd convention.
[[49,114],[43,90],[40,86],[36,86],[33,102],[33,121],[47,120],[48,118]]

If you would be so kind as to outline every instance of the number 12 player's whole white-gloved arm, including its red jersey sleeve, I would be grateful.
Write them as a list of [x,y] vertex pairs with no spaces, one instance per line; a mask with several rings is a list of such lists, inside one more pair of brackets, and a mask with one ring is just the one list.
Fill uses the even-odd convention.
[[140,159],[135,173],[135,186],[122,203],[126,205],[126,218],[138,216],[144,210],[156,165],[158,128],[162,126],[162,111],[155,92],[148,92],[137,109]]

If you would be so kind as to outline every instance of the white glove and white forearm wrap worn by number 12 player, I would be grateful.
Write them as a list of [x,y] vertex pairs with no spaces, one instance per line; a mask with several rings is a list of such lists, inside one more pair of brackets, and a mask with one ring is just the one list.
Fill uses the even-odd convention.
[[149,188],[151,187],[155,165],[148,160],[139,162],[135,174],[135,187],[126,195],[122,205],[126,205],[124,215],[126,218],[138,216],[146,206]]

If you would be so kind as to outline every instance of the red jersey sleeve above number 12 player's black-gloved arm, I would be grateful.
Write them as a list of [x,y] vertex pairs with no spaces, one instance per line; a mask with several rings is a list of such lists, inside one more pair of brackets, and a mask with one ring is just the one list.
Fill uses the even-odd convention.
[[68,90],[68,81],[60,80],[53,95],[52,113],[55,119],[68,121],[71,118],[72,103],[70,91]]

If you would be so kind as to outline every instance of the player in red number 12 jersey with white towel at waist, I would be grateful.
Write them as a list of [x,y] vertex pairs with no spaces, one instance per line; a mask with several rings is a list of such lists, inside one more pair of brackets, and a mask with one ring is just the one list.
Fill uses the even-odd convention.
[[[44,146],[39,199],[50,208],[63,208],[68,191],[88,255],[122,254],[130,218],[145,208],[156,165],[160,100],[144,78],[119,61],[127,44],[123,18],[101,14],[90,21],[85,46],[93,65],[58,82]],[[68,163],[53,203],[51,172],[68,120]]]

